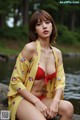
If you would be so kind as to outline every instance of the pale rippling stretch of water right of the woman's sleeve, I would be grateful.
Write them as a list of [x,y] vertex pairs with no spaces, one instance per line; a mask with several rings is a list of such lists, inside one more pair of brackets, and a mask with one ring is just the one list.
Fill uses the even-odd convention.
[[80,75],[66,74],[65,98],[80,99]]

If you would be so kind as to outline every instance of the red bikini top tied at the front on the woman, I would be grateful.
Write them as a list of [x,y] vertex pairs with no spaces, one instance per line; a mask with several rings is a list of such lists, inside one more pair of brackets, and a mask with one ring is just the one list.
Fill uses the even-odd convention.
[[35,79],[36,80],[44,79],[45,84],[47,84],[49,80],[52,80],[55,77],[56,77],[56,72],[45,76],[45,71],[41,67],[38,67]]

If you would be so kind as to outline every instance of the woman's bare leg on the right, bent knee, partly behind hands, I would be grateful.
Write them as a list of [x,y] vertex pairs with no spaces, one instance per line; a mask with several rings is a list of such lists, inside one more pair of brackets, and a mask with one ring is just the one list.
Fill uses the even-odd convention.
[[[42,102],[49,107],[52,99],[44,98]],[[60,100],[58,115],[61,116],[60,120],[72,120],[73,118],[73,105],[65,100]]]

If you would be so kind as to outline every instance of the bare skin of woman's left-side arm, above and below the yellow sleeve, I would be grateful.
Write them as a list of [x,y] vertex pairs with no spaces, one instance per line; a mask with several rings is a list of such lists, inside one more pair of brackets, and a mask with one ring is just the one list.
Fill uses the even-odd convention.
[[[22,56],[26,58],[28,61],[30,61],[33,58],[35,53],[36,45],[34,42],[25,45],[24,49],[21,52]],[[27,89],[24,90],[18,89],[18,92],[21,96],[23,96],[25,99],[27,99],[33,104],[39,101],[39,99],[35,97],[33,94],[31,94]]]

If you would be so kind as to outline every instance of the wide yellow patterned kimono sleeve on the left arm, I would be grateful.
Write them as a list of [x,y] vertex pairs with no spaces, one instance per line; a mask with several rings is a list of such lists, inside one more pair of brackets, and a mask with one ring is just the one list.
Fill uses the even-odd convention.
[[14,91],[26,89],[24,83],[30,62],[23,58],[21,53],[17,57],[16,64],[11,77],[11,87]]

